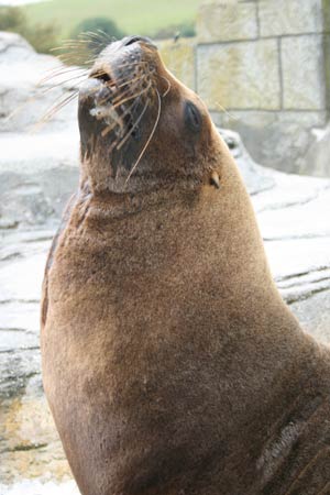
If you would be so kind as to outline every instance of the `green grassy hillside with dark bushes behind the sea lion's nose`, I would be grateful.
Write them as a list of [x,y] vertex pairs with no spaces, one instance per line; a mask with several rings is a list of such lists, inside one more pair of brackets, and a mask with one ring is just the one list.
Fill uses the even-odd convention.
[[[0,31],[24,36],[37,52],[50,53],[66,38],[81,32],[103,32],[103,40],[125,34],[165,38],[193,36],[200,0],[51,0],[20,8],[0,7]],[[92,42],[90,43],[92,44]],[[77,63],[82,50],[99,51],[102,46],[86,42],[72,53]],[[67,50],[64,50],[67,53]]]

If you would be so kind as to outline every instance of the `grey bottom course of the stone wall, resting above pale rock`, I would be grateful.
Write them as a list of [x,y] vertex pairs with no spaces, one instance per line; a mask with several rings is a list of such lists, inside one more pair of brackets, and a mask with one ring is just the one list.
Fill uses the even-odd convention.
[[[315,129],[327,123],[326,112],[222,111],[212,112],[215,122],[242,136],[257,163],[286,170],[319,177],[330,175],[329,155],[320,151]],[[322,148],[327,150],[327,138]]]

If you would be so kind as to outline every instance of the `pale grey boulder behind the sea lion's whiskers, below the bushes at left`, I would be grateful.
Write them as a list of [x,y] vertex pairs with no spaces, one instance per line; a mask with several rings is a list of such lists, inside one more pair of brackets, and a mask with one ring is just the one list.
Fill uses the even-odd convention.
[[[0,131],[33,130],[47,110],[70,96],[77,80],[72,78],[82,72],[77,69],[65,76],[63,69],[55,57],[35,53],[20,35],[0,32]],[[73,123],[72,110],[67,106],[43,129],[56,130],[68,121]]]

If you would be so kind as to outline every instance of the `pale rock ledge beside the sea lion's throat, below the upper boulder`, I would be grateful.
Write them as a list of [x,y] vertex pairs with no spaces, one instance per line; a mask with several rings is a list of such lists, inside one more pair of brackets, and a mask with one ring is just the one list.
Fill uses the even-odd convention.
[[78,183],[78,133],[3,133],[0,147],[0,229],[57,218]]

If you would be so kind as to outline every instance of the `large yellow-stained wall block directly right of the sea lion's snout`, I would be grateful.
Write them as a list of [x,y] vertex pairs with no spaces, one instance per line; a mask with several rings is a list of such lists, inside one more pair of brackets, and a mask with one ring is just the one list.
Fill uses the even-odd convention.
[[275,110],[280,106],[275,40],[200,45],[197,89],[210,110]]

